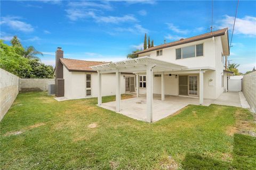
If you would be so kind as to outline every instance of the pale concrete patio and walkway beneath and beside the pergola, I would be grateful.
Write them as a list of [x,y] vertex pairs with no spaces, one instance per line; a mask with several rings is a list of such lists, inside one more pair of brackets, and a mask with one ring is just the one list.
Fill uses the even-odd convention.
[[[189,104],[199,105],[199,99],[180,96],[165,96],[165,100],[162,101],[161,95],[154,95],[153,122],[172,115]],[[242,107],[239,92],[225,92],[216,100],[204,99],[205,106],[209,106],[210,104]],[[103,103],[101,107],[115,111],[116,102],[111,101]],[[140,95],[140,97],[121,100],[121,112],[118,113],[136,120],[146,121],[146,110],[146,95]]]

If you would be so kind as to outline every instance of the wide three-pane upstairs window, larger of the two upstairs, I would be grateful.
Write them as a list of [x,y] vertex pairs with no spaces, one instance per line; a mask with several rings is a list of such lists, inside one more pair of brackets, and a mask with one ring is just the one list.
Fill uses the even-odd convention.
[[198,44],[176,49],[176,59],[199,57],[204,55],[204,45]]

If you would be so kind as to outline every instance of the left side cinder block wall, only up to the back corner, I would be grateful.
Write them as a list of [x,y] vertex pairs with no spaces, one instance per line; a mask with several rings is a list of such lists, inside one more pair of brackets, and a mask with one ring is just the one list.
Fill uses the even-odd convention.
[[13,101],[19,93],[19,77],[0,69],[0,118],[4,117],[6,112],[12,106]]

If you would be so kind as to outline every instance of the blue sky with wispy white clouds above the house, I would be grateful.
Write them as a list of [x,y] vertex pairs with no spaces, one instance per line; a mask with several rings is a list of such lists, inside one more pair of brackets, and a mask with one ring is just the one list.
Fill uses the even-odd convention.
[[[54,65],[55,50],[67,58],[124,60],[141,48],[145,32],[155,45],[209,32],[211,1],[1,1],[1,39],[17,35],[24,46],[44,53]],[[233,27],[237,1],[214,1],[214,30]],[[239,71],[256,64],[256,2],[240,1],[230,49]]]

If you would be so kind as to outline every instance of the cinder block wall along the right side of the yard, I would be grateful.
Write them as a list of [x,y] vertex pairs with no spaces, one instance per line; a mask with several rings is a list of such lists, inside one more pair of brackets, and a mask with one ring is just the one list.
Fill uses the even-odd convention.
[[256,71],[244,75],[243,77],[243,94],[252,108],[256,112]]

